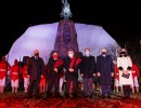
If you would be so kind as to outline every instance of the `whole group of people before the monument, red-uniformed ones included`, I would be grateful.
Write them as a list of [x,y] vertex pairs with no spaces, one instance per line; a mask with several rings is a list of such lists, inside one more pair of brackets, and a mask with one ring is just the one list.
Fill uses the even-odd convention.
[[[125,49],[121,49],[117,62],[114,63],[112,56],[107,54],[106,49],[100,51],[100,55],[92,56],[90,49],[85,49],[85,55],[78,57],[73,50],[69,50],[68,56],[61,58],[55,51],[52,52],[47,66],[43,59],[39,57],[39,51],[34,51],[34,56],[26,60],[23,68],[20,67],[17,59],[11,67],[2,57],[0,62],[0,93],[3,93],[5,85],[7,71],[10,70],[12,93],[17,93],[18,75],[23,75],[25,93],[28,97],[40,97],[40,92],[46,93],[46,98],[52,96],[60,97],[64,91],[65,97],[78,96],[78,72],[82,78],[82,96],[93,97],[94,78],[99,77],[101,96],[111,98],[113,79],[116,92],[120,86],[120,91],[126,98],[130,97],[130,93],[136,91],[139,93],[139,69],[132,63],[130,56]],[[65,84],[64,84],[65,83]],[[65,87],[63,87],[65,86]]]

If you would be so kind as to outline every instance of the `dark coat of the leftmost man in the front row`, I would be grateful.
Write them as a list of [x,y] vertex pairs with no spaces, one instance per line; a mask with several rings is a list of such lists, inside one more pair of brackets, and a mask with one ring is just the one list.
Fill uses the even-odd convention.
[[35,56],[30,57],[27,66],[29,80],[40,81],[41,75],[43,75],[43,66],[44,65],[42,58],[38,57],[38,59],[36,59]]

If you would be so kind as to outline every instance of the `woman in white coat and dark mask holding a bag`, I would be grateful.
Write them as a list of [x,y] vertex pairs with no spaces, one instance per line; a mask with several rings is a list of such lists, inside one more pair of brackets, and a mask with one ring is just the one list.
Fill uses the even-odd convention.
[[119,69],[119,84],[123,85],[125,98],[130,98],[130,85],[133,84],[131,76],[131,58],[127,55],[127,51],[125,49],[121,49],[119,55],[120,56],[117,57],[117,67]]

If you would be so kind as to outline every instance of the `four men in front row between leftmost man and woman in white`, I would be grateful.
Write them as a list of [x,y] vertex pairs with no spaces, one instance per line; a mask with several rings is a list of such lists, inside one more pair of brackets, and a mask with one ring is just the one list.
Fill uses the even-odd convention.
[[[55,55],[55,57],[54,57]],[[57,68],[55,65],[57,64]],[[85,56],[82,58],[76,57],[74,51],[68,51],[68,57],[61,60],[56,52],[53,53],[52,57],[49,59],[49,75],[48,75],[48,91],[47,97],[50,97],[52,86],[54,85],[54,94],[59,94],[59,79],[60,72],[63,67],[65,69],[65,97],[70,96],[70,89],[73,97],[77,97],[77,82],[78,82],[78,70],[80,69],[80,75],[84,79],[84,96],[93,96],[93,77],[100,77],[100,85],[102,90],[102,97],[105,97],[107,91],[107,97],[111,97],[111,85],[112,77],[114,77],[114,64],[110,55],[107,55],[106,50],[101,50],[101,55],[95,57],[90,55],[90,49],[85,49]],[[59,95],[55,95],[59,96]]]

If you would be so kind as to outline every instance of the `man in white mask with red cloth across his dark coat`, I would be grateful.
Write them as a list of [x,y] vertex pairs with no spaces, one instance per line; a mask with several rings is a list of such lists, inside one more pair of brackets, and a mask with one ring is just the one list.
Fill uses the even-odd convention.
[[65,58],[64,67],[66,69],[65,80],[66,80],[66,91],[65,96],[69,97],[69,89],[73,86],[73,97],[77,97],[77,82],[78,82],[78,69],[80,68],[81,59],[75,56],[73,50],[68,51],[68,57]]

